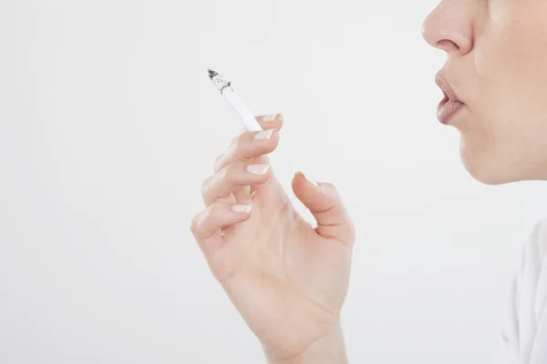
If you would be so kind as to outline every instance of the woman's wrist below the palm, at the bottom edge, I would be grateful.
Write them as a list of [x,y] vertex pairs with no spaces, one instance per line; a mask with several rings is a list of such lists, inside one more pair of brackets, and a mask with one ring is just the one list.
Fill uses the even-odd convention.
[[305,349],[286,358],[266,355],[267,364],[347,364],[346,344],[341,328],[315,339]]

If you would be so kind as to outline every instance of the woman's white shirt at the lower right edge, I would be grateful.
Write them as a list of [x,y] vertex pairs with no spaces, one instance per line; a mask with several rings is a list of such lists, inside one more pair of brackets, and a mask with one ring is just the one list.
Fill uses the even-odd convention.
[[496,364],[547,364],[547,220],[534,228],[511,285]]

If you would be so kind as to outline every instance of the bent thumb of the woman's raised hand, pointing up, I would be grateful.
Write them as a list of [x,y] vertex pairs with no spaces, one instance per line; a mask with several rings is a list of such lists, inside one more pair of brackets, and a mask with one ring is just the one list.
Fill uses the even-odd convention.
[[346,245],[355,240],[355,227],[336,188],[330,183],[316,183],[304,173],[293,177],[294,195],[307,207],[317,221],[315,231],[323,238],[334,238]]

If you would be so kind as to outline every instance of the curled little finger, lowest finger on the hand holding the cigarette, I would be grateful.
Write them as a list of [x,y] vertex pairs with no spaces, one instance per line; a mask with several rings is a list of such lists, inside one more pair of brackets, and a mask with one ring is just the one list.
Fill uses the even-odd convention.
[[217,232],[251,217],[252,205],[214,203],[191,220],[191,233],[204,243]]

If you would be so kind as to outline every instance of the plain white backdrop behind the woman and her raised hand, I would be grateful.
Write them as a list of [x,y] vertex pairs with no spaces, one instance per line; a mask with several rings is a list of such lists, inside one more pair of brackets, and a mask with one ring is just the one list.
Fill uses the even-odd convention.
[[0,362],[264,362],[189,231],[242,129],[209,67],[356,221],[350,362],[489,362],[547,187],[461,166],[436,4],[0,1]]

